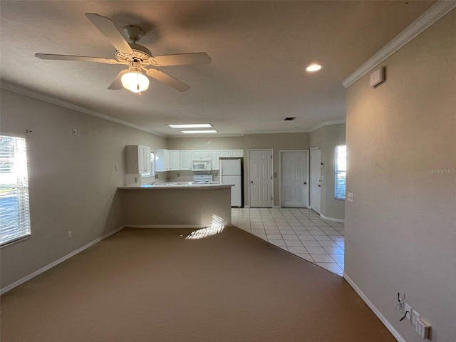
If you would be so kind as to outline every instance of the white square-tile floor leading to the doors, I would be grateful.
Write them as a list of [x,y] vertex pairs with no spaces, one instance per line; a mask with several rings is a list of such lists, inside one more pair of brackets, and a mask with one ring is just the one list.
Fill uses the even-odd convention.
[[232,224],[343,275],[343,223],[304,208],[232,208]]

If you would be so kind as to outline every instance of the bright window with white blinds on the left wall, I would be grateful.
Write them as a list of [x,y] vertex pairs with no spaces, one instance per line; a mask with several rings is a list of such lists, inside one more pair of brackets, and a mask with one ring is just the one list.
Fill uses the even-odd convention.
[[26,140],[0,135],[0,246],[28,235]]

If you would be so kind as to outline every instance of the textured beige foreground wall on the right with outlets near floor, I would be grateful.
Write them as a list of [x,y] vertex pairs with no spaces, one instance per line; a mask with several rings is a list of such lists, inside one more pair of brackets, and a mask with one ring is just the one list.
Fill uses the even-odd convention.
[[405,341],[398,292],[456,341],[455,32],[453,10],[348,89],[345,272]]

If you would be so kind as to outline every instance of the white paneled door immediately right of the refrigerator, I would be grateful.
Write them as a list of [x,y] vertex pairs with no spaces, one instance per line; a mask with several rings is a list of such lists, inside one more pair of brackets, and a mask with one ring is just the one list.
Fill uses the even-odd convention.
[[249,151],[250,207],[273,207],[272,151]]

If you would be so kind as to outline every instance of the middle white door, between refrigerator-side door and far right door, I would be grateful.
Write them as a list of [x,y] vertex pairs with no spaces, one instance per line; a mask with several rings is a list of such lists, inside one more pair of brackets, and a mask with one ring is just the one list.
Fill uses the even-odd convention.
[[307,205],[307,152],[281,152],[281,207]]

